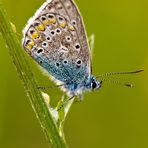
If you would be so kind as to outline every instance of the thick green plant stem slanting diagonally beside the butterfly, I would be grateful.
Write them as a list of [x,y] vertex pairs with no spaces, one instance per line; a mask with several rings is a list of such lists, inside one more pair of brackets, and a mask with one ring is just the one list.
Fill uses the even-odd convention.
[[14,32],[2,3],[0,3],[0,32],[12,56],[17,72],[23,82],[27,96],[45,132],[48,141],[54,148],[66,148],[64,139],[60,136],[56,122],[50,113],[41,92],[37,89],[36,80],[25,59],[25,53]]

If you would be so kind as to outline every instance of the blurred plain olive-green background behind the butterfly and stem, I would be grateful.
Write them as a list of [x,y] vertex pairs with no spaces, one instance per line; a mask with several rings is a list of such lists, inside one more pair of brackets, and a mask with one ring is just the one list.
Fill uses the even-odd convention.
[[[44,2],[2,1],[19,34]],[[122,76],[122,82],[135,84],[133,89],[104,83],[102,89],[86,93],[82,103],[74,104],[65,123],[68,145],[70,148],[147,148],[148,1],[75,1],[88,36],[91,33],[96,36],[93,73],[141,68],[145,72]],[[53,84],[31,59],[30,64],[41,86]],[[48,148],[1,36],[0,68],[0,147]],[[46,92],[53,103],[62,95],[57,89]]]

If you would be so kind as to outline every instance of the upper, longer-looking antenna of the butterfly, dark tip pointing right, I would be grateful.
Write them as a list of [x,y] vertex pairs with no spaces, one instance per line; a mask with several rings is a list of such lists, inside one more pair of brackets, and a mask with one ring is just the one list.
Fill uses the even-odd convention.
[[110,72],[110,73],[99,75],[97,78],[100,78],[100,77],[108,77],[108,76],[113,76],[113,75],[137,74],[137,73],[140,73],[140,72],[143,72],[143,71],[144,70],[141,69],[141,70],[130,71],[130,72]]

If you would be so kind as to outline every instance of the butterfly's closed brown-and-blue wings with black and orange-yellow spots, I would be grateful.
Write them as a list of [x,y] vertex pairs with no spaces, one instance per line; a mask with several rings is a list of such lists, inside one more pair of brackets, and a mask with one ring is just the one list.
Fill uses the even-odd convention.
[[87,36],[72,0],[47,0],[23,34],[25,50],[56,80],[79,84],[90,76]]

